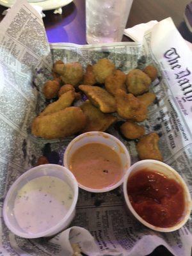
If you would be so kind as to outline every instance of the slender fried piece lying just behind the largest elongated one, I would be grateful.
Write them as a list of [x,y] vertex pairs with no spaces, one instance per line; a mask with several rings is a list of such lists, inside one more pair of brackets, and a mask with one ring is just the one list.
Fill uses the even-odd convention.
[[49,104],[42,113],[40,113],[40,116],[45,116],[57,111],[60,111],[61,109],[68,108],[71,106],[72,102],[75,99],[75,93],[72,91],[68,91],[61,95],[60,99],[56,100],[55,102],[52,102]]

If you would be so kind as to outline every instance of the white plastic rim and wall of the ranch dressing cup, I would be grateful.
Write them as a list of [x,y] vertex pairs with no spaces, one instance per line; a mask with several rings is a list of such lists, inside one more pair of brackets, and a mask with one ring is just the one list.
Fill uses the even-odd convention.
[[[73,191],[72,204],[70,205],[70,208],[68,209],[63,219],[58,221],[58,223],[56,223],[56,225],[54,225],[53,227],[38,233],[27,232],[26,230],[22,229],[19,226],[19,223],[15,218],[14,205],[15,205],[15,199],[17,197],[17,193],[20,191],[21,188],[23,188],[24,185],[26,185],[31,180],[44,177],[47,175],[63,180],[63,182],[67,183],[68,186],[70,186],[70,188]],[[62,230],[67,228],[70,222],[72,221],[72,219],[74,218],[76,213],[77,198],[78,198],[77,180],[74,177],[74,175],[69,170],[67,170],[67,168],[60,166],[58,164],[43,164],[40,166],[36,166],[34,168],[31,168],[24,174],[22,174],[17,180],[15,180],[13,185],[10,187],[3,205],[4,222],[6,226],[15,235],[20,237],[37,238],[37,237],[53,236],[55,234],[58,234],[58,232],[61,232]],[[52,209],[54,211],[57,211],[57,208],[52,208]],[[36,209],[36,211],[38,211],[38,209]]]

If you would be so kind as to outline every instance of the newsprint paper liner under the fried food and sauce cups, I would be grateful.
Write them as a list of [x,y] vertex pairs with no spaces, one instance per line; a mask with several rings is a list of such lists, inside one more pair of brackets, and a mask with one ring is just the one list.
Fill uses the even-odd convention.
[[[51,76],[52,61],[58,59],[79,61],[86,67],[106,57],[125,73],[149,63],[156,65],[159,79],[154,81],[152,92],[157,100],[143,125],[147,133],[159,134],[164,162],[178,170],[192,193],[192,54],[170,18],[148,31],[143,44],[51,44],[49,47],[40,15],[22,0],[8,12],[0,28],[1,210],[10,185],[39,156],[47,154],[51,163],[63,164],[63,153],[71,138],[47,141],[30,134],[33,118],[45,107],[42,83]],[[132,163],[138,161],[134,141],[123,140],[115,127],[108,132],[125,143]],[[172,233],[154,232],[126,212],[122,188],[98,195],[81,190],[71,228],[52,239],[17,237],[6,228],[1,214],[0,252],[4,256],[70,256],[74,253],[70,244],[77,243],[86,255],[142,256],[163,244],[175,256],[189,256],[191,223],[189,220]]]

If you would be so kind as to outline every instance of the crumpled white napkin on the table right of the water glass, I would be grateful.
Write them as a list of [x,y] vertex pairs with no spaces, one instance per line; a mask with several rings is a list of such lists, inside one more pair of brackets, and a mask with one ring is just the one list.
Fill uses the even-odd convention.
[[141,23],[132,28],[126,28],[124,29],[124,35],[129,36],[132,40],[136,42],[142,42],[145,31],[152,28],[157,23],[157,20],[150,20],[147,23]]

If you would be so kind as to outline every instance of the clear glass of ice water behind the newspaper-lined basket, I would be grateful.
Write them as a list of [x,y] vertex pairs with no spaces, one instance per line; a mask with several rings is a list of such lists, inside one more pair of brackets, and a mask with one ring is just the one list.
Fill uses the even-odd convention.
[[132,0],[86,0],[86,42],[120,42]]

